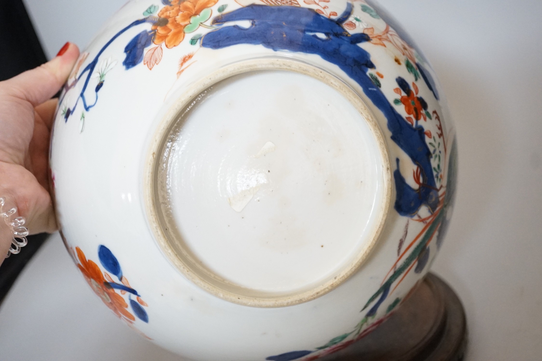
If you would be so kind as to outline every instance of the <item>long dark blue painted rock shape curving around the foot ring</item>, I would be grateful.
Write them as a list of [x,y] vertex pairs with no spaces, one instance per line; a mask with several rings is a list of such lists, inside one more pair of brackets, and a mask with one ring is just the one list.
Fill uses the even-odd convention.
[[[352,6],[338,17],[344,21],[350,17]],[[249,28],[238,25],[227,26],[228,22],[251,22]],[[414,191],[399,173],[399,160],[395,171],[397,200],[396,211],[405,216],[417,213],[422,205],[435,211],[438,192],[431,167],[431,152],[425,143],[425,130],[422,126],[409,124],[375,86],[369,69],[375,64],[369,52],[359,47],[359,43],[370,41],[366,34],[349,34],[337,19],[319,15],[313,9],[296,6],[248,5],[214,18],[212,24],[222,25],[202,38],[202,47],[220,49],[237,44],[263,45],[273,50],[288,50],[319,55],[322,59],[338,65],[355,80],[365,95],[384,113],[388,120],[391,139],[408,154],[413,163],[423,170],[423,186]],[[321,38],[314,33],[321,33]],[[408,84],[407,84],[408,86]]]

